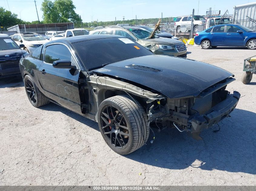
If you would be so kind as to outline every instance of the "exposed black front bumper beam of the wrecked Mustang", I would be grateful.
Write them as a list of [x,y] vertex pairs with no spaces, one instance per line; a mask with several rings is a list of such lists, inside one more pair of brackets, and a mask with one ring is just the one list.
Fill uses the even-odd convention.
[[191,132],[200,132],[204,129],[208,129],[225,117],[228,117],[236,107],[239,98],[239,92],[234,91],[227,99],[212,107],[206,114],[194,117],[192,119]]

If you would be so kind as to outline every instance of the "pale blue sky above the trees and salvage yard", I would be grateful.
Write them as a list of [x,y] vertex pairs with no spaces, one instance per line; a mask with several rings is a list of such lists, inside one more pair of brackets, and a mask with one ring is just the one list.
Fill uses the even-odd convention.
[[[36,0],[39,20],[42,20],[41,4],[43,0]],[[52,0],[53,1],[53,0]],[[199,2],[199,9],[198,9]],[[192,14],[194,8],[195,14],[205,15],[208,8],[212,10],[221,10],[221,14],[228,9],[229,14],[233,14],[234,5],[252,3],[255,0],[73,0],[76,6],[76,13],[81,15],[84,22],[91,21],[115,21],[142,18],[163,18],[178,17]],[[8,6],[9,5],[9,6]],[[34,0],[0,0],[0,6],[6,10],[18,14],[18,18],[24,21],[36,21],[37,14]]]

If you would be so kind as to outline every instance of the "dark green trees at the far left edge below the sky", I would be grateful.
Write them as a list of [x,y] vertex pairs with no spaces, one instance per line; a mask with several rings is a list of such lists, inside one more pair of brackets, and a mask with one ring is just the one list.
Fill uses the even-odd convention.
[[5,10],[0,7],[0,25],[3,27],[10,27],[16,24],[21,24],[22,20],[17,18],[18,15],[12,13],[11,11]]

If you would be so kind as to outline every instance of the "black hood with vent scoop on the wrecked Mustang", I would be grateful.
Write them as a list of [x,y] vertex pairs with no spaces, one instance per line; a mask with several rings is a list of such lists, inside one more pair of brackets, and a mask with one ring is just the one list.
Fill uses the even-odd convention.
[[128,59],[93,72],[141,84],[169,98],[196,97],[211,85],[234,76],[204,62],[162,55]]

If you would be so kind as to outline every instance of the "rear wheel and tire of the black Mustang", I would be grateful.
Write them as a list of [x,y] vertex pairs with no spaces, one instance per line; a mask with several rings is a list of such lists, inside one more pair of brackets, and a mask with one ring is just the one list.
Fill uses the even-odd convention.
[[50,103],[50,101],[39,91],[33,78],[29,75],[24,77],[24,86],[28,100],[34,107],[40,107]]

